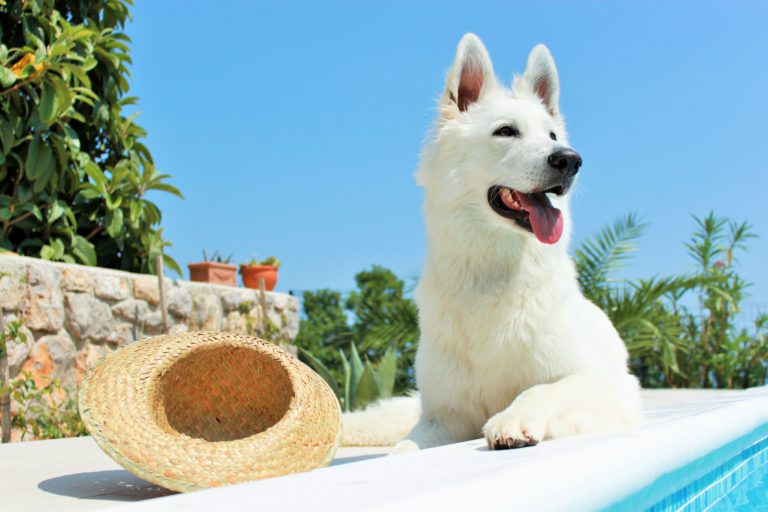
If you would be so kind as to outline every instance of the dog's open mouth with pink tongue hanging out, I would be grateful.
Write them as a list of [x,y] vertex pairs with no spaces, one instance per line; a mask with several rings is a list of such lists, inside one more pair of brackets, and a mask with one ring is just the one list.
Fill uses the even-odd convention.
[[536,235],[539,242],[554,244],[563,235],[563,214],[552,206],[547,194],[564,193],[562,185],[530,193],[496,185],[488,189],[488,204],[502,217]]

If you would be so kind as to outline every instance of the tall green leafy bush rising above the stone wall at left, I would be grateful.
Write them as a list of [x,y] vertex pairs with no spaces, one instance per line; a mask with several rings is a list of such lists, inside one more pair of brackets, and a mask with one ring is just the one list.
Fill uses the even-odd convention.
[[[126,116],[130,0],[15,0],[0,15],[0,246],[154,272],[170,243],[146,132]],[[181,274],[176,262],[165,264]]]

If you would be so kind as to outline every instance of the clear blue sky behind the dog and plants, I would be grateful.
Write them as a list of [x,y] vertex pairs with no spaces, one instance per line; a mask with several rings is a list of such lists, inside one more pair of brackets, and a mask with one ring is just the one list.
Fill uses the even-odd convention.
[[[574,242],[630,211],[650,224],[625,275],[690,268],[691,214],[760,236],[741,258],[768,309],[768,3],[137,0],[131,93],[161,171],[168,252],[283,261],[278,290],[418,275],[413,172],[459,38],[498,76],[547,44],[584,158]],[[185,275],[186,277],[186,275]]]

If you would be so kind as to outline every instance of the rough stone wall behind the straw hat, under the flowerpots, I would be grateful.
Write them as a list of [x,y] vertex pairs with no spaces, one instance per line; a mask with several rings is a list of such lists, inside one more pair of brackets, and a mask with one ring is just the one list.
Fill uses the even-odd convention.
[[[258,290],[166,279],[165,291],[171,333],[239,332],[282,345],[298,334],[298,301],[284,293],[267,292],[262,323]],[[21,319],[26,335],[9,343],[12,378],[23,370],[39,383],[78,384],[103,355],[163,333],[159,302],[156,276],[0,254],[3,319]]]

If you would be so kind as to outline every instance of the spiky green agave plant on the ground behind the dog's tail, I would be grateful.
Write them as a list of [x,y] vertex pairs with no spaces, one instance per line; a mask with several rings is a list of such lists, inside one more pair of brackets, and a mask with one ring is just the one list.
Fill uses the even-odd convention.
[[310,352],[299,349],[310,366],[328,383],[341,402],[345,412],[364,409],[379,399],[392,396],[397,374],[397,353],[390,347],[377,364],[363,362],[354,343],[350,343],[349,357],[339,350],[344,367],[343,385],[339,386],[331,371]]

